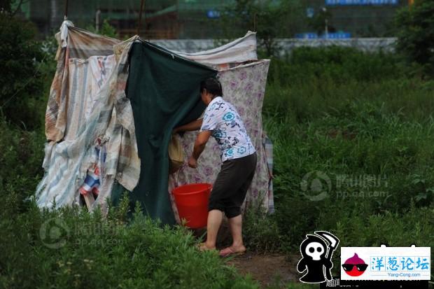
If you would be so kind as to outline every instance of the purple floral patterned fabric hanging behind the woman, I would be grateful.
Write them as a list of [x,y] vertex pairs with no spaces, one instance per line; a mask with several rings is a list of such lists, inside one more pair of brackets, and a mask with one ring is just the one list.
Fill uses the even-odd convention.
[[[258,203],[268,209],[269,172],[264,146],[262,146],[262,101],[267,83],[269,60],[261,60],[251,64],[237,66],[232,69],[220,71],[218,78],[223,87],[223,98],[237,109],[248,136],[250,136],[256,153],[258,164],[255,177],[248,189],[246,204]],[[179,140],[187,158],[193,152],[195,138],[198,132],[186,132]],[[188,183],[214,183],[221,169],[221,148],[216,141],[210,140],[197,162],[197,169],[191,169],[186,164],[169,176],[169,192],[172,198],[172,208],[179,221],[176,205],[172,196],[173,188]]]

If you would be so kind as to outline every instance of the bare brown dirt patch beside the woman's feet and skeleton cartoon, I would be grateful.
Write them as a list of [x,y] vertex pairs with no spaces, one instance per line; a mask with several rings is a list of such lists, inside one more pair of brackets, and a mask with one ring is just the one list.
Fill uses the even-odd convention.
[[241,274],[250,274],[262,288],[267,285],[284,286],[297,278],[297,260],[288,260],[285,255],[246,253],[228,258]]

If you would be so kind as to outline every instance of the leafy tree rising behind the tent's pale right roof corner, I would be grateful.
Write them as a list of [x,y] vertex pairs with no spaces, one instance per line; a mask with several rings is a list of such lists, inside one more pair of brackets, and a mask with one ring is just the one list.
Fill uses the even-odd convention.
[[256,30],[259,45],[268,56],[276,54],[276,38],[293,36],[303,17],[299,0],[235,0],[221,12],[220,26],[225,38]]

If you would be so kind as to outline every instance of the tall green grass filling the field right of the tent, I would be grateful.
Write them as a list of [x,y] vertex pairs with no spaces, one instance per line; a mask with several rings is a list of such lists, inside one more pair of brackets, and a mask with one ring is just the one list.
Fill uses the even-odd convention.
[[[284,250],[297,253],[314,230],[342,234],[342,246],[434,245],[434,83],[407,69],[395,55],[347,48],[272,62],[263,113]],[[330,178],[321,202],[301,186],[312,171]]]

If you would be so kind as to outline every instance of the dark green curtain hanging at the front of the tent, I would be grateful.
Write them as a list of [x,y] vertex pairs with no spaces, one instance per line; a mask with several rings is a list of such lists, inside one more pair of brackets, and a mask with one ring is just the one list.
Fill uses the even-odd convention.
[[[130,202],[132,207],[140,202],[144,213],[164,224],[175,223],[167,188],[172,130],[200,117],[205,108],[200,82],[216,74],[208,66],[146,41],[134,43],[130,50],[125,92],[132,105],[141,159],[139,183],[130,193]],[[115,201],[121,191],[113,190]]]

